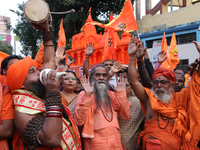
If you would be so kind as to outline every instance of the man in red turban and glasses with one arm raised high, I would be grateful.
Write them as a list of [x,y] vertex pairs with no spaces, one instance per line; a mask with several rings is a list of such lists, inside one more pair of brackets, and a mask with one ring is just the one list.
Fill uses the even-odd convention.
[[[194,113],[189,110],[190,96],[194,95],[191,93],[192,89],[199,93],[200,69],[198,68],[198,71],[193,73],[191,86],[189,85],[181,92],[173,91],[176,76],[172,70],[166,68],[155,70],[152,76],[153,87],[151,90],[144,88],[138,82],[136,70],[136,52],[143,49],[143,44],[138,44],[135,37],[131,37],[128,47],[128,73],[131,87],[140,100],[146,116],[145,130],[140,134],[140,137],[143,138],[143,150],[194,149],[199,137],[192,134],[191,131],[194,127],[190,129],[191,131],[189,130],[188,126],[192,126],[188,116],[190,115],[190,120],[191,116],[194,116]],[[196,62],[196,66],[197,64],[199,61]],[[199,101],[199,94],[196,96],[193,98],[195,102]],[[199,122],[195,119],[192,119],[192,123],[193,121]],[[197,125],[197,127],[199,126]],[[195,140],[197,142],[194,144]]]

